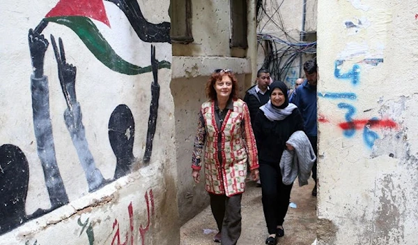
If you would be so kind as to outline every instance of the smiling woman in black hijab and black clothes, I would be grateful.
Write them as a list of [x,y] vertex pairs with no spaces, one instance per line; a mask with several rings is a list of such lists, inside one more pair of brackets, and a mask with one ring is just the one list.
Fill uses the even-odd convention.
[[288,210],[293,183],[282,182],[280,159],[284,149],[293,150],[286,141],[295,131],[303,131],[297,106],[289,103],[284,82],[270,84],[270,101],[260,107],[254,121],[265,223],[269,236],[265,244],[277,244],[284,236],[283,222]]

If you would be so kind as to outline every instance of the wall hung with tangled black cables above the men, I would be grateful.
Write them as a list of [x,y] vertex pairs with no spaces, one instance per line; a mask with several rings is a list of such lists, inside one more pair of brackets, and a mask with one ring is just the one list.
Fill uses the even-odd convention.
[[[263,48],[265,54],[263,68],[270,70],[270,75],[274,80],[285,82],[288,73],[292,69],[297,68],[297,70],[300,70],[301,62],[296,63],[296,61],[302,61],[302,57],[305,55],[316,57],[316,42],[297,40],[286,31],[284,19],[280,13],[280,8],[284,0],[270,0],[270,6],[272,8],[270,11],[265,9],[267,5],[266,1],[268,0],[257,0],[256,2],[257,27],[259,29],[257,42]],[[306,4],[306,1],[304,1],[304,4]],[[305,15],[306,13],[301,14]],[[261,20],[263,20],[262,27]],[[263,29],[267,24],[273,24],[274,27],[277,27],[278,32],[282,34],[281,37],[263,33]],[[302,26],[304,26],[304,23]],[[304,34],[304,30],[302,30],[300,39],[304,37]],[[299,74],[299,77],[301,76],[302,74]]]

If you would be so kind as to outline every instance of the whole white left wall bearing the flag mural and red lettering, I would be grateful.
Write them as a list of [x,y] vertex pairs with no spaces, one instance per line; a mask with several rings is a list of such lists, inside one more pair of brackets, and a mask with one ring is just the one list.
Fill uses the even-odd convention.
[[1,3],[0,244],[178,244],[168,8]]

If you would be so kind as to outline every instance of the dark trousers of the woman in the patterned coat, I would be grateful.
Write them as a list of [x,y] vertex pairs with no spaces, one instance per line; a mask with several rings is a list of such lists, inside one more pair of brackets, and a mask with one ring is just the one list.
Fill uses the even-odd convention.
[[209,193],[210,208],[221,232],[222,245],[237,244],[241,235],[241,198],[242,194],[227,197]]

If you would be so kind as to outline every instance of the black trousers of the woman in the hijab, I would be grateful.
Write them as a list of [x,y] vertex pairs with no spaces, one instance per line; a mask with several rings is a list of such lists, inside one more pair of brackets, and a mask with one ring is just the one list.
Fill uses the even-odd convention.
[[283,184],[279,162],[274,165],[260,161],[261,193],[265,223],[269,234],[275,234],[277,225],[283,225],[284,216],[288,211],[291,200],[293,183]]

